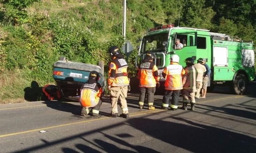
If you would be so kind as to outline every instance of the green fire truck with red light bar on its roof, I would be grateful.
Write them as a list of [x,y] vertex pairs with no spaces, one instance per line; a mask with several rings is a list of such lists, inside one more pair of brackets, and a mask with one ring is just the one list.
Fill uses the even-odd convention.
[[[175,49],[176,39],[180,39],[183,48]],[[165,81],[161,73],[170,64],[173,54],[180,56],[179,64],[183,67],[188,57],[205,59],[212,71],[209,90],[215,85],[227,84],[233,93],[243,94],[248,82],[255,78],[253,41],[246,42],[222,33],[169,24],[148,29],[137,42],[140,42],[137,60],[144,59],[148,51],[154,52],[161,84]]]

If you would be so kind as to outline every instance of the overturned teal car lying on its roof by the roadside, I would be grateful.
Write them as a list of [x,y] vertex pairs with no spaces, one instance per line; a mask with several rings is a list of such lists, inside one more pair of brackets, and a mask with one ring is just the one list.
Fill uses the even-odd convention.
[[[99,74],[98,83],[102,86],[104,93],[104,64],[99,62],[94,64],[79,63],[68,61],[64,56],[53,64],[53,78],[57,83],[61,98],[78,101],[80,89],[89,79],[91,71],[95,70]],[[104,94],[102,94],[102,97]]]

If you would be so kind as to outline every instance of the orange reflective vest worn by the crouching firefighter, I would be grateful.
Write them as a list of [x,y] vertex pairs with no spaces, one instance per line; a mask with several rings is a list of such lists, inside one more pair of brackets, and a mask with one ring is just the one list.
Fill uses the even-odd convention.
[[89,79],[81,89],[79,96],[81,106],[87,108],[96,106],[102,92],[102,88],[97,84],[96,80]]

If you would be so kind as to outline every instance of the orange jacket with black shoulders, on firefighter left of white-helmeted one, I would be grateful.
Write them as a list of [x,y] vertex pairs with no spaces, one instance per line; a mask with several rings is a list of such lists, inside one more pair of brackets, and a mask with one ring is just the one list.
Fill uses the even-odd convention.
[[155,87],[160,79],[158,68],[149,60],[139,65],[136,76],[140,80],[139,87]]

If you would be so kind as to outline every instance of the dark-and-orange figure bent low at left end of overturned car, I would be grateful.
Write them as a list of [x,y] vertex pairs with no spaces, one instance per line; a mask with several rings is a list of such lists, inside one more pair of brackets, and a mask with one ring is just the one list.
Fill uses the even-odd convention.
[[47,84],[42,88],[42,91],[49,100],[60,99],[60,92],[56,85]]

